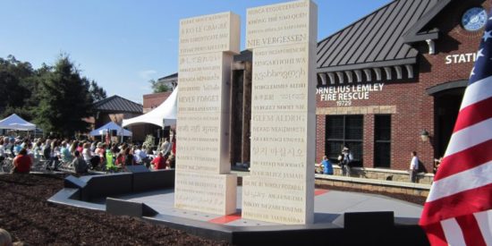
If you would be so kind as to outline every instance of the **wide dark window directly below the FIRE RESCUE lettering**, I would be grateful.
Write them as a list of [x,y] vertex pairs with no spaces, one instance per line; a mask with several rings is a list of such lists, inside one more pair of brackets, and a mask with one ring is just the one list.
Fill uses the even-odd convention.
[[352,165],[362,165],[362,115],[327,115],[327,157],[338,164],[337,157],[344,147],[350,148]]

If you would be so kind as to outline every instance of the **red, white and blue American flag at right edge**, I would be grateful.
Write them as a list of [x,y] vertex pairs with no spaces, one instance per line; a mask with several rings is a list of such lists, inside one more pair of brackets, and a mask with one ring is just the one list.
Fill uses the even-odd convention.
[[420,217],[432,245],[492,245],[491,58],[492,18]]

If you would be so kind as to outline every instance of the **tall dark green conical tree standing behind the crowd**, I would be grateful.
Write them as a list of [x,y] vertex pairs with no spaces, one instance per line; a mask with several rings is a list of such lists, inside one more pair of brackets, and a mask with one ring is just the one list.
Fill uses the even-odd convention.
[[70,61],[60,55],[50,72],[42,72],[38,90],[38,106],[34,108],[35,123],[44,131],[73,136],[76,131],[87,131],[89,123],[82,118],[91,115],[93,98],[90,83]]

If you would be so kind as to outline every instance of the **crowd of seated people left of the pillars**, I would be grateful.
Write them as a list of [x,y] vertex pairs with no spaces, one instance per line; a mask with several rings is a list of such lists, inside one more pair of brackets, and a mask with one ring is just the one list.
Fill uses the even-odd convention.
[[0,161],[13,158],[12,173],[26,174],[34,163],[42,161],[48,170],[62,164],[77,174],[93,170],[117,171],[127,165],[146,165],[154,170],[174,168],[175,140],[165,139],[157,147],[98,140],[59,140],[0,136]]

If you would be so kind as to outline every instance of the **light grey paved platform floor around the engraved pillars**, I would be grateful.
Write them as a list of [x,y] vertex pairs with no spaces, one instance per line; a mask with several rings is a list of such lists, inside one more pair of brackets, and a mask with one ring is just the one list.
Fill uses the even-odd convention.
[[[342,227],[344,226],[344,213],[393,211],[396,224],[416,225],[422,211],[419,205],[374,194],[317,189],[315,195],[315,224],[333,223]],[[238,213],[233,216],[217,216],[176,209],[174,208],[174,190],[150,191],[121,196],[118,199],[143,202],[160,215],[165,216],[177,216],[221,225],[276,225],[241,217],[242,187],[238,187],[237,191]]]

